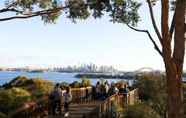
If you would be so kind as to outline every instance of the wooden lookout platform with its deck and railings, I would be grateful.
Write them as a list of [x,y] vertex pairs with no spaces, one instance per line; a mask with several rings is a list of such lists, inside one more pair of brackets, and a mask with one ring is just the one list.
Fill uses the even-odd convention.
[[[114,94],[104,100],[94,99],[92,88],[72,88],[72,103],[69,106],[68,118],[117,118],[122,116],[122,111],[128,105],[133,105],[138,101],[138,89],[130,90],[128,94]],[[87,96],[88,94],[88,96]],[[115,107],[119,107],[116,110]],[[61,118],[62,115],[50,115],[50,104],[48,96],[30,103],[25,103],[22,107],[12,112],[11,117],[27,118]],[[63,110],[62,110],[63,111]]]

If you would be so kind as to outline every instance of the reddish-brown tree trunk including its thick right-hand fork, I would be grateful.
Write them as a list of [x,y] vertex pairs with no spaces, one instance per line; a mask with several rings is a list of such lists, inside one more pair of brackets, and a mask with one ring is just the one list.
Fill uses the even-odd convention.
[[[168,118],[183,118],[182,71],[185,55],[185,7],[186,0],[177,0],[175,11],[174,49],[164,46],[164,62],[167,76]],[[168,49],[167,49],[168,47]]]

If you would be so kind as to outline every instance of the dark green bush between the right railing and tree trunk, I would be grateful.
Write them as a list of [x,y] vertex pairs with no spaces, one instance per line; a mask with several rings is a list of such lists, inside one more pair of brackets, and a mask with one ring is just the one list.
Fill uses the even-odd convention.
[[161,117],[166,116],[167,92],[164,75],[144,74],[138,76],[134,87],[139,89],[139,98],[153,108]]

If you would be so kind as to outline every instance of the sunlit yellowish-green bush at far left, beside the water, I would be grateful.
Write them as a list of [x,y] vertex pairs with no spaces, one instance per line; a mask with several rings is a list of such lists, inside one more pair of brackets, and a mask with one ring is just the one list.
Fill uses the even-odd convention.
[[16,77],[0,90],[0,111],[4,114],[10,114],[25,102],[35,101],[49,94],[52,89],[53,83],[50,81],[39,78],[28,79],[22,76]]

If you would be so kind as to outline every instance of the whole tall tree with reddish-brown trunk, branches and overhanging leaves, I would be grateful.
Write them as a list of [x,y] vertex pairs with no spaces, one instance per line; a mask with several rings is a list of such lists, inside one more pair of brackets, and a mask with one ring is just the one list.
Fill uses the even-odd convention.
[[[150,13],[161,46],[157,45],[157,40],[148,30],[135,27],[140,18],[138,9],[141,5],[137,0],[5,0],[4,8],[0,9],[0,21],[41,16],[45,23],[54,23],[62,13],[65,13],[76,22],[76,19],[86,19],[90,15],[98,18],[107,13],[112,22],[124,23],[135,31],[147,33],[165,64],[168,117],[183,118],[181,84],[186,39],[186,0],[146,1],[149,8],[147,14]],[[157,27],[153,12],[153,5],[158,1],[161,2],[160,28]],[[169,26],[170,3],[174,5],[172,6],[174,16]]]

